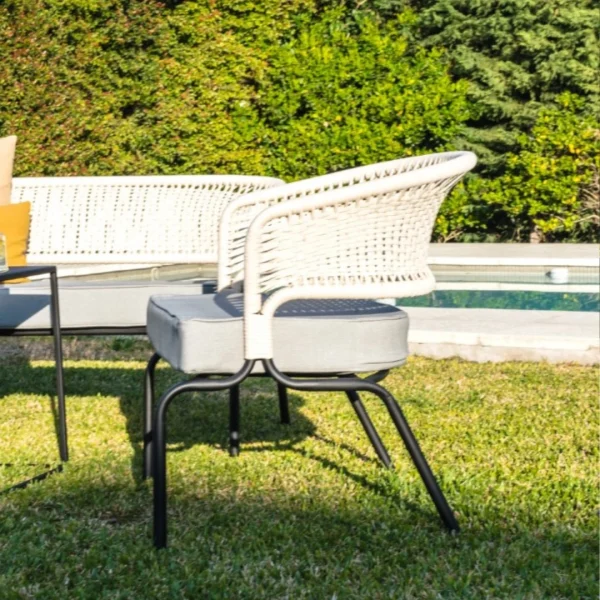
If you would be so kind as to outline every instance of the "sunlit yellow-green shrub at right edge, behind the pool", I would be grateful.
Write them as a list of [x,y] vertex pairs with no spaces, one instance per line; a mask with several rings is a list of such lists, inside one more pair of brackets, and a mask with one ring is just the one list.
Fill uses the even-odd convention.
[[516,241],[597,241],[600,122],[582,115],[571,94],[541,111],[531,135],[519,137],[504,175],[478,186],[490,213],[506,215],[504,237]]

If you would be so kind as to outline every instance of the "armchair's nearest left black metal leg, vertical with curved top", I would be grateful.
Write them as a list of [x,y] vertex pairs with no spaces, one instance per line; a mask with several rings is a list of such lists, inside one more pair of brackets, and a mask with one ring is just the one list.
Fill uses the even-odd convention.
[[175,396],[183,392],[216,392],[239,385],[252,371],[254,360],[231,377],[223,379],[192,379],[171,386],[160,398],[152,421],[152,473],[154,480],[154,545],[167,545],[167,408]]

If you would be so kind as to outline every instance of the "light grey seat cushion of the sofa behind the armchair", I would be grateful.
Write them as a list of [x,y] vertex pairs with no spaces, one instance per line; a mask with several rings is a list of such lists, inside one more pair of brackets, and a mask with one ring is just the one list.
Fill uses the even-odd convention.
[[[77,282],[59,279],[61,329],[143,328],[153,294],[198,294],[194,283]],[[0,330],[49,330],[50,284],[0,285]]]

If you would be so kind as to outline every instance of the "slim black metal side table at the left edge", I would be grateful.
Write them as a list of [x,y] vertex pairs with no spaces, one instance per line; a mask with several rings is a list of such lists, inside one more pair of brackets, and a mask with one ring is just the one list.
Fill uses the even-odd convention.
[[[54,360],[56,363],[56,395],[58,398],[58,442],[61,464],[57,467],[40,473],[31,479],[22,481],[3,490],[2,493],[10,490],[24,488],[34,481],[46,479],[48,475],[57,471],[62,471],[62,463],[69,460],[69,448],[67,445],[67,414],[65,407],[65,389],[63,378],[63,359],[62,359],[62,338],[60,334],[60,312],[58,307],[58,281],[56,277],[56,267],[54,265],[39,265],[26,267],[10,267],[7,271],[0,272],[0,283],[10,281],[11,279],[21,279],[22,277],[32,277],[34,275],[50,275],[50,316],[52,322],[52,337],[54,338]],[[2,310],[2,298],[0,297],[0,310]],[[49,465],[47,465],[49,466]]]

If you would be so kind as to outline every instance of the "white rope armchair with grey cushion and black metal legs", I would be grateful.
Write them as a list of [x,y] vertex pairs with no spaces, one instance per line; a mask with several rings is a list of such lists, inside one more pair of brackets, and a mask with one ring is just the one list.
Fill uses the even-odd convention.
[[[217,293],[153,296],[148,306],[156,354],[146,370],[144,473],[154,477],[157,547],[167,541],[167,407],[183,392],[229,389],[236,454],[239,385],[255,374],[277,382],[284,422],[286,388],[345,392],[378,457],[390,466],[359,393],[378,396],[442,520],[458,530],[398,404],[378,383],[406,360],[408,318],[376,300],[433,290],[427,249],[434,221],[445,196],[475,163],[470,152],[405,158],[257,191],[228,205],[219,233]],[[161,358],[194,377],[153,406]]]

